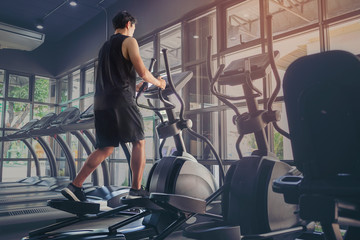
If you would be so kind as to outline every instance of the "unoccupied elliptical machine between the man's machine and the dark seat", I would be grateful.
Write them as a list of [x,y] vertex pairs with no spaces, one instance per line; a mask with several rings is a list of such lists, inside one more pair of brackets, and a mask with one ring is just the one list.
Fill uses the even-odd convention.
[[[189,226],[184,235],[196,239],[273,239],[284,234],[302,233],[306,226],[297,214],[298,206],[287,204],[282,196],[272,191],[272,182],[279,176],[296,175],[299,172],[292,166],[279,161],[269,151],[265,128],[272,122],[279,132],[276,121],[280,115],[272,109],[272,104],[280,89],[280,78],[275,66],[272,49],[271,16],[268,22],[268,53],[238,59],[226,68],[221,65],[213,77],[210,70],[210,42],[208,38],[207,69],[211,82],[211,92],[234,112],[233,123],[237,126],[239,137],[236,149],[239,161],[231,165],[227,172],[222,194],[222,221],[212,221]],[[269,66],[276,77],[276,87],[270,97],[267,109],[259,110],[256,98],[261,92],[252,81],[266,77]],[[215,84],[241,85],[244,96],[229,96],[220,93]],[[241,114],[232,100],[245,100],[248,113]],[[240,142],[245,134],[254,133],[258,150],[251,156],[243,156]],[[286,134],[286,133],[285,133]],[[292,236],[292,239],[294,236]],[[283,238],[282,238],[283,239]]]

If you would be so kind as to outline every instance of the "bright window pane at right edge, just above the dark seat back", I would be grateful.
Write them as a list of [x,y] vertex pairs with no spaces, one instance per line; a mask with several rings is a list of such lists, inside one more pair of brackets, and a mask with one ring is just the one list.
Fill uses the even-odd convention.
[[330,27],[330,49],[359,54],[360,19]]

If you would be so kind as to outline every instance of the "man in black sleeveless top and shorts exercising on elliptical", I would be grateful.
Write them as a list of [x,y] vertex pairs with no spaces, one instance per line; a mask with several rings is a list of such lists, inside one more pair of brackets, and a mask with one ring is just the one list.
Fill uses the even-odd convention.
[[80,172],[61,193],[74,201],[86,201],[82,188],[85,179],[110,156],[120,142],[132,143],[130,168],[132,185],[128,198],[146,197],[141,180],[145,167],[144,123],[135,104],[136,73],[146,82],[162,89],[166,82],[156,79],[145,67],[133,34],[136,20],[128,12],[113,18],[114,35],[99,51],[94,96],[96,150],[90,154]]

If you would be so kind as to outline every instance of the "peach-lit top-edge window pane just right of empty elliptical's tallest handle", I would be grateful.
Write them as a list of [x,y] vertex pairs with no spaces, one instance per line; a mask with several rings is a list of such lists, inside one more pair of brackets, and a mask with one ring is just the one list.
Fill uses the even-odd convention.
[[269,4],[273,15],[273,32],[282,33],[319,21],[318,1],[279,1]]

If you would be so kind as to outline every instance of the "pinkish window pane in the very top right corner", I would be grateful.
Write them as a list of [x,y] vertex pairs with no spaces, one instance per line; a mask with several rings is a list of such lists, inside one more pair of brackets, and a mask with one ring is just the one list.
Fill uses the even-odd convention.
[[326,0],[327,17],[336,17],[360,9],[359,0]]

